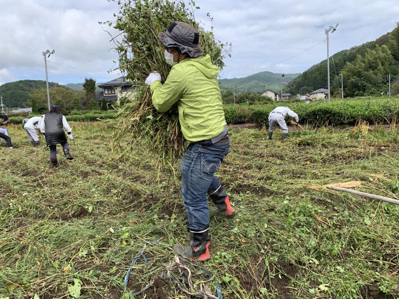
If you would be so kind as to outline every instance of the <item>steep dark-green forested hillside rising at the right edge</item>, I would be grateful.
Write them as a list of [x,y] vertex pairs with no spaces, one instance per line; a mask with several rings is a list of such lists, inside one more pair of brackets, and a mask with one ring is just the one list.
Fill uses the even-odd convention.
[[[399,93],[399,24],[375,41],[343,50],[330,57],[330,89],[340,93],[343,74],[344,96],[378,96],[389,90]],[[327,88],[327,59],[303,72],[286,87],[291,94],[312,92]]]

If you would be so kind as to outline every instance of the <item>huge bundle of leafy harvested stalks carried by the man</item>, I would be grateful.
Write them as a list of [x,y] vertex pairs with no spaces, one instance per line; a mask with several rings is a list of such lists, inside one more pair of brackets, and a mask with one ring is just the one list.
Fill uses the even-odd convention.
[[[158,33],[165,31],[174,21],[193,25],[200,32],[203,54],[210,55],[212,63],[219,68],[224,66],[223,58],[230,56],[231,44],[215,40],[212,31],[204,30],[195,20],[194,12],[200,7],[194,1],[188,5],[183,0],[115,2],[119,5],[119,14],[114,14],[115,21],[106,23],[119,30],[118,36],[113,37],[112,41],[119,54],[119,69],[126,74],[128,81],[133,82],[134,97],[121,99],[113,152],[119,152],[122,156],[134,145],[140,144],[154,155],[160,168],[173,169],[172,165],[186,147],[177,106],[175,104],[166,113],[157,112],[152,104],[150,88],[144,84],[151,72],[160,73],[162,83],[170,72],[171,67],[165,61],[164,46],[158,39]],[[129,142],[126,143],[126,140]]]

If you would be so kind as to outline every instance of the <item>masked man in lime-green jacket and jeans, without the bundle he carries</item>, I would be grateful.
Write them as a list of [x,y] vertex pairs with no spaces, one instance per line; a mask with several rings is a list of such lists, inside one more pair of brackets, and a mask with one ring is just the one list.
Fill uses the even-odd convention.
[[191,25],[174,22],[158,38],[165,47],[165,60],[172,66],[164,84],[159,73],[151,73],[154,107],[168,111],[175,103],[184,138],[190,142],[180,162],[182,196],[189,220],[190,246],[175,245],[181,255],[197,261],[210,258],[209,210],[206,194],[224,216],[234,216],[226,191],[214,173],[229,152],[220,88],[220,71],[210,56],[202,56],[200,35]]

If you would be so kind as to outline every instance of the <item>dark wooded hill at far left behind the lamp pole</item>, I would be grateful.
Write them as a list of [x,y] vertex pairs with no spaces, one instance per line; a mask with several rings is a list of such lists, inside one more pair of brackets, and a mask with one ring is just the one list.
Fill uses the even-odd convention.
[[[49,87],[62,86],[58,83],[48,82]],[[46,88],[43,80],[19,80],[0,85],[0,95],[7,108],[23,108],[29,100],[29,94],[37,88]]]

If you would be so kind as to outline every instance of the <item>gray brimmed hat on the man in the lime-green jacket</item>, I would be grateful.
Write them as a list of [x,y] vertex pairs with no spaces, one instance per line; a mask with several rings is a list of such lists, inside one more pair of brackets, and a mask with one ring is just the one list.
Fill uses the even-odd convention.
[[167,31],[158,34],[158,38],[165,47],[178,48],[182,54],[187,53],[192,58],[202,55],[200,33],[188,23],[173,22]]

